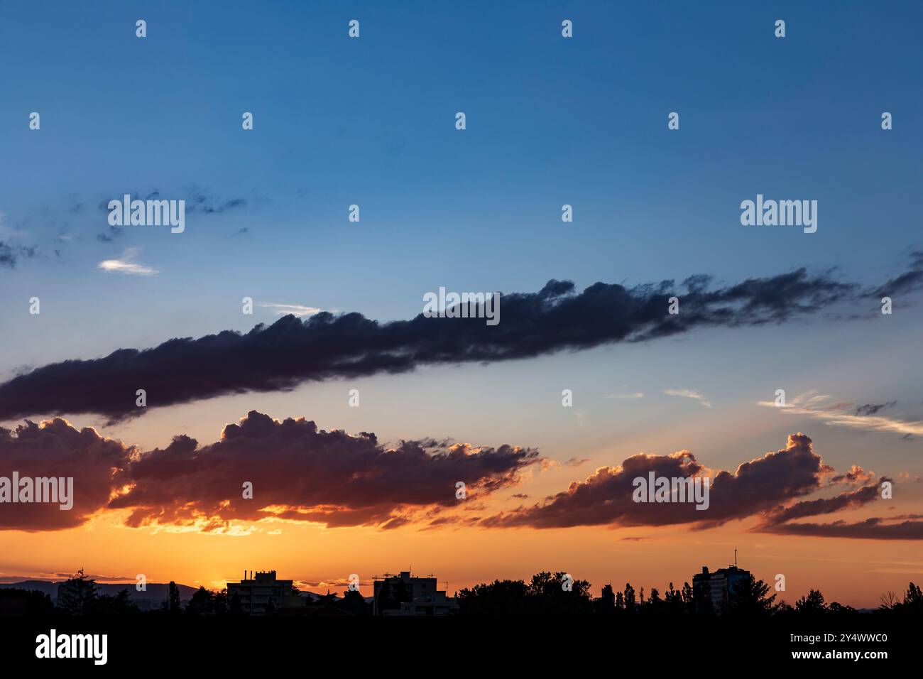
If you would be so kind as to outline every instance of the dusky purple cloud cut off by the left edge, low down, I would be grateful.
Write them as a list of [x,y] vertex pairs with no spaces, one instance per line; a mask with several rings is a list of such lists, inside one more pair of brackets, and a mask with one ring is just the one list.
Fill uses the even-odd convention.
[[16,430],[0,427],[0,476],[72,477],[73,507],[59,503],[4,503],[0,529],[55,530],[77,527],[109,502],[114,472],[126,467],[133,448],[105,439],[89,428],[77,430],[55,418]]

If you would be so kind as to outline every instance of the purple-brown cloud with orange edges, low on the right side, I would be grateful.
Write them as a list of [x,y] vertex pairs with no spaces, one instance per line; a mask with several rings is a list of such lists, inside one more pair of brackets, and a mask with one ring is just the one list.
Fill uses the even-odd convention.
[[[853,480],[865,474],[861,467],[854,466],[850,471]],[[879,498],[881,481],[889,480],[881,477],[879,483],[869,483],[834,497],[793,502],[823,490],[823,479],[833,474],[833,468],[814,453],[810,438],[803,433],[790,434],[785,448],[745,462],[733,474],[727,471],[713,474],[710,505],[704,511],[697,510],[695,503],[635,503],[632,481],[638,477],[646,479],[650,472],[670,479],[707,476],[707,470],[689,451],[673,455],[632,455],[620,467],[600,467],[587,479],[572,481],[567,491],[532,506],[488,516],[481,525],[561,528],[685,524],[706,528],[756,517],[759,519],[753,527],[756,532],[881,540],[923,539],[923,522],[912,520],[897,526],[883,519],[855,524],[796,523],[797,519],[807,516],[831,514],[871,503]]]

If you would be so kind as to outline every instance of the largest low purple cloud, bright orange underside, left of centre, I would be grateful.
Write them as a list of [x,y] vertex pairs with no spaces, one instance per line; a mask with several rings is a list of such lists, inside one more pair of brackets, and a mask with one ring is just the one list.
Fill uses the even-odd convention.
[[[174,437],[140,455],[120,483],[129,491],[114,509],[131,509],[129,526],[169,525],[224,530],[232,521],[264,518],[328,527],[409,523],[414,510],[457,506],[456,482],[468,499],[514,485],[537,452],[503,445],[436,447],[404,441],[386,448],[375,434],[318,430],[304,418],[274,420],[251,411],[205,446]],[[253,499],[242,498],[245,481]]]

